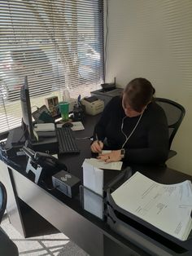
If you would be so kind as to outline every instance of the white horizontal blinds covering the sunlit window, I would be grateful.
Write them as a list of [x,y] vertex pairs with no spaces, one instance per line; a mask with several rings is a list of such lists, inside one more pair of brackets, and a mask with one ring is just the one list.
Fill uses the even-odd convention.
[[32,111],[68,89],[89,95],[103,82],[103,1],[1,0],[0,129],[20,125],[24,76]]

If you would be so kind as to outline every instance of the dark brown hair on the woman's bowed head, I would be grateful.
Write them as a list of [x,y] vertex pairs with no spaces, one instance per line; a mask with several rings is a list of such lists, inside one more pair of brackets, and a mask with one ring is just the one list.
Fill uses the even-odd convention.
[[146,78],[137,77],[133,79],[124,88],[125,100],[128,101],[131,108],[137,112],[141,112],[155,94],[155,88]]

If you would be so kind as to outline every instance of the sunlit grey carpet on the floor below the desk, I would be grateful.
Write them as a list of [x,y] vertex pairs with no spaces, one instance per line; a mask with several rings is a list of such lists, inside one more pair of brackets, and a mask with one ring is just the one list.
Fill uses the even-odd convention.
[[20,256],[89,256],[63,233],[25,239],[12,227],[7,217],[3,218],[1,227],[17,245]]

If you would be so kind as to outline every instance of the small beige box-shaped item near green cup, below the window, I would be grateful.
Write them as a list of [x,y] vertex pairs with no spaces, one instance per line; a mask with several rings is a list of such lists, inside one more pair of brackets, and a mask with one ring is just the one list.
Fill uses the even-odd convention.
[[91,116],[103,112],[104,102],[95,96],[86,97],[81,99],[81,104],[85,106],[85,112]]

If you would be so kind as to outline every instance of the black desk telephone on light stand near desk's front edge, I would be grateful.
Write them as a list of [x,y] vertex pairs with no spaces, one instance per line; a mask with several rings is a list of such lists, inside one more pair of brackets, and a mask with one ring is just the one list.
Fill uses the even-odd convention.
[[68,171],[56,157],[44,152],[34,152],[31,148],[23,147],[24,153],[28,156],[26,172],[32,171],[35,174],[35,183],[40,183],[46,178],[58,173],[60,170]]

